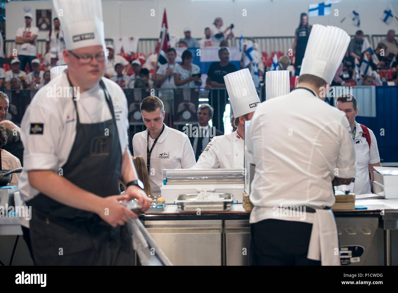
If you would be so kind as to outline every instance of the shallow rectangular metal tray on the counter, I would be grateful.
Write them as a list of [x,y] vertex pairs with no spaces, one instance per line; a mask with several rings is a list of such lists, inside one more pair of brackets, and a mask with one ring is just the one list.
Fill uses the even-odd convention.
[[197,193],[195,194],[181,194],[174,201],[179,211],[197,211],[197,208],[202,212],[213,211],[229,211],[231,209],[232,194],[220,193],[219,200],[196,200]]

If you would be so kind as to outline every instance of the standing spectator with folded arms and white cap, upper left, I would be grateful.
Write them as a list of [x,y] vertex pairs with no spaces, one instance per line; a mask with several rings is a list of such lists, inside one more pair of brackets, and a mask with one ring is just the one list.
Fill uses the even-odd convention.
[[36,38],[37,35],[39,35],[39,28],[31,26],[33,15],[31,13],[25,13],[24,18],[25,26],[17,29],[15,36],[15,43],[20,44],[20,50],[18,52],[18,57],[21,61],[20,70],[25,70],[26,63],[32,68],[30,63],[36,58]]

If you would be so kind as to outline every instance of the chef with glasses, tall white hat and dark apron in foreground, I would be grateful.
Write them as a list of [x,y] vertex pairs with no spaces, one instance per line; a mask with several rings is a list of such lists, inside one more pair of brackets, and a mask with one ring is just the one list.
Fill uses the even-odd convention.
[[[125,223],[137,215],[119,201],[139,199],[146,211],[150,200],[131,161],[126,97],[103,78],[101,1],[54,0],[54,6],[64,10],[67,23],[68,69],[37,92],[21,123],[25,168],[19,187],[32,207],[33,260],[36,265],[132,265]],[[68,94],[49,94],[53,87]],[[126,186],[124,195],[119,181]]]

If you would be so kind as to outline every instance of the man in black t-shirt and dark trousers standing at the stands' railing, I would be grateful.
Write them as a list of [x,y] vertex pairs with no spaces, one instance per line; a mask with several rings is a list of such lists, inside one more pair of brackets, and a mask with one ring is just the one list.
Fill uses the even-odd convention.
[[[211,88],[225,88],[224,76],[237,70],[234,64],[229,63],[229,49],[227,47],[219,49],[219,58],[220,62],[211,63],[207,71],[206,90],[211,90]],[[225,105],[227,103],[226,89],[211,90],[209,92],[209,101],[210,105],[215,109],[213,115],[214,125],[224,133],[222,117],[224,117]]]

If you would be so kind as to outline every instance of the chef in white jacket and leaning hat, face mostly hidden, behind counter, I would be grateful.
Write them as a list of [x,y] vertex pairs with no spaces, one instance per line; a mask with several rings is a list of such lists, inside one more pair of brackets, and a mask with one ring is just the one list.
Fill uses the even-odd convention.
[[243,169],[244,121],[252,119],[260,99],[248,68],[229,73],[224,80],[237,129],[213,137],[192,169]]

